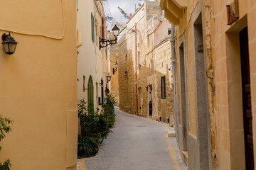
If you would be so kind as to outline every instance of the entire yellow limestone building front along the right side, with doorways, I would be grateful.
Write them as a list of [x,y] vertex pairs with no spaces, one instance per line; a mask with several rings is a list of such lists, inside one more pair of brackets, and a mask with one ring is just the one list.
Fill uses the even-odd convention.
[[176,25],[174,115],[188,169],[254,169],[255,1],[161,8]]

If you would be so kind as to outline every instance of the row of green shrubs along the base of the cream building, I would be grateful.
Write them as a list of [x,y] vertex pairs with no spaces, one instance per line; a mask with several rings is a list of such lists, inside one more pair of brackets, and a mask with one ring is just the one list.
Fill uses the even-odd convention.
[[[81,135],[78,136],[78,157],[92,157],[98,152],[107,134],[114,127],[114,96],[107,94],[103,110],[97,108],[96,112],[88,113],[84,99],[78,102],[78,118],[80,118]],[[96,143],[96,145],[95,145]],[[1,169],[0,169],[1,170]]]

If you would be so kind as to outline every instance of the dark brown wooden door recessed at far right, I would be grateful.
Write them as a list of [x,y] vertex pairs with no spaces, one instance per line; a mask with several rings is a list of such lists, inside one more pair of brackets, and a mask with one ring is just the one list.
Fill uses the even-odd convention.
[[246,169],[254,169],[253,137],[252,137],[252,105],[250,89],[250,62],[247,28],[240,31],[240,52],[242,68],[242,110],[245,134]]

